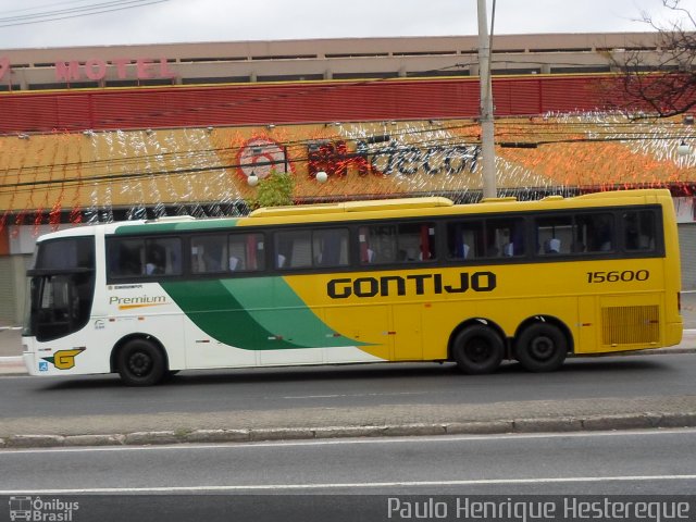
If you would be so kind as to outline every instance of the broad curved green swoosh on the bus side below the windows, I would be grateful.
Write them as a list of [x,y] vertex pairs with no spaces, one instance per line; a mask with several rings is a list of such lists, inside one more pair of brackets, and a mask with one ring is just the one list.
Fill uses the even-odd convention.
[[247,350],[363,346],[335,336],[283,277],[161,283],[203,332]]

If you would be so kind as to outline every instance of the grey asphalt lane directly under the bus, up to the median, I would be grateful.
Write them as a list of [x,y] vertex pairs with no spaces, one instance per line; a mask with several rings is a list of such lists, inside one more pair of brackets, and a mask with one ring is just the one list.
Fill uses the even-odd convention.
[[451,364],[370,364],[183,372],[129,388],[116,376],[0,380],[0,418],[214,413],[288,408],[493,405],[506,401],[696,395],[693,353],[574,359],[535,374],[506,364],[462,375]]

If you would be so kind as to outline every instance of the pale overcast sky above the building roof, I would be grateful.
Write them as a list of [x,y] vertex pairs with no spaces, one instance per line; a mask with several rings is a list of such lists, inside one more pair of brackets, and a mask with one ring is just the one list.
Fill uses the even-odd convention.
[[[0,50],[475,35],[476,3],[476,0],[0,0]],[[681,0],[681,5],[696,15],[696,0]],[[488,23],[492,8],[493,0],[488,0]],[[86,10],[104,12],[84,15]],[[48,13],[53,13],[49,17],[63,20],[34,23],[38,15]],[[661,25],[675,18],[662,0],[496,0],[494,33],[652,30],[641,21],[643,13]]]

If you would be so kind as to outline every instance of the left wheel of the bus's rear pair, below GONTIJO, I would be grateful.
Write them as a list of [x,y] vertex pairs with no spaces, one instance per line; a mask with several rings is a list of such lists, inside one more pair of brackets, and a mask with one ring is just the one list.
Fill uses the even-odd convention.
[[490,326],[474,324],[457,334],[451,353],[462,372],[481,375],[498,369],[505,355],[505,343]]

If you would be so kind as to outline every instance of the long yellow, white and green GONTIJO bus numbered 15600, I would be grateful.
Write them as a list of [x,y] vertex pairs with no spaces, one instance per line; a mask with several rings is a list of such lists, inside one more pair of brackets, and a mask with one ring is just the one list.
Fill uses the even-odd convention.
[[439,197],[265,208],[238,219],[83,226],[42,236],[28,271],[33,375],[502,360],[680,343],[668,190]]

